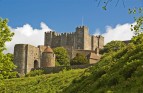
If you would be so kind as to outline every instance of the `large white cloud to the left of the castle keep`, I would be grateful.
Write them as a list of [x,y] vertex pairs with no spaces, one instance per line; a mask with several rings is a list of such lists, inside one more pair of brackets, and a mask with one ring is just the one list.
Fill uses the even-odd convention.
[[29,24],[22,27],[9,27],[15,35],[11,42],[6,43],[7,50],[5,53],[13,53],[15,44],[31,44],[34,46],[44,45],[44,32],[52,31],[44,22],[40,23],[41,29],[33,29]]

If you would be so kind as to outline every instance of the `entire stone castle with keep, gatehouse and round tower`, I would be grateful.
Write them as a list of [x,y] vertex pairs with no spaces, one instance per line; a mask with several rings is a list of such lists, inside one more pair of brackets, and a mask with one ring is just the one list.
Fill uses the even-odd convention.
[[104,46],[104,37],[91,36],[88,27],[80,26],[72,33],[45,32],[44,45],[38,47],[29,44],[16,44],[14,47],[14,63],[20,74],[26,74],[32,68],[55,66],[55,54],[51,48],[64,47],[70,59],[77,53],[86,55],[90,64],[100,60],[99,49]]

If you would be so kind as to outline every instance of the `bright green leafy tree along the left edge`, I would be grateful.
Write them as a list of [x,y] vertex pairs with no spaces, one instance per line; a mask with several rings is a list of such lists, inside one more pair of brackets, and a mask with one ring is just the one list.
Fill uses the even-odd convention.
[[4,54],[6,50],[5,43],[12,40],[12,33],[7,25],[8,20],[0,18],[0,78],[12,78],[16,76],[13,69],[16,66],[13,64],[13,55]]

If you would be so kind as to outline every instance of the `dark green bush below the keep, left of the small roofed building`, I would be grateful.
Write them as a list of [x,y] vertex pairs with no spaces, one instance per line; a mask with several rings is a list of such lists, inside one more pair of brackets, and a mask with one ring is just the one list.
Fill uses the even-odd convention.
[[76,56],[71,59],[71,65],[81,65],[81,64],[88,64],[88,60],[85,55],[77,53]]

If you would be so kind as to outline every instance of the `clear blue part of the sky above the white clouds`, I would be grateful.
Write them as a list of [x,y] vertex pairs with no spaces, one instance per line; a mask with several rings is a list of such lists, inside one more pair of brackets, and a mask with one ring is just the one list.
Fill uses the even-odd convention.
[[[115,1],[115,0],[113,0]],[[40,28],[40,22],[46,23],[57,32],[71,32],[76,26],[88,26],[90,33],[96,29],[105,32],[106,26],[132,23],[133,16],[128,14],[129,7],[142,6],[143,0],[122,0],[115,7],[112,2],[107,11],[97,7],[96,0],[0,0],[0,16],[9,19],[9,26],[16,28],[28,23]]]

